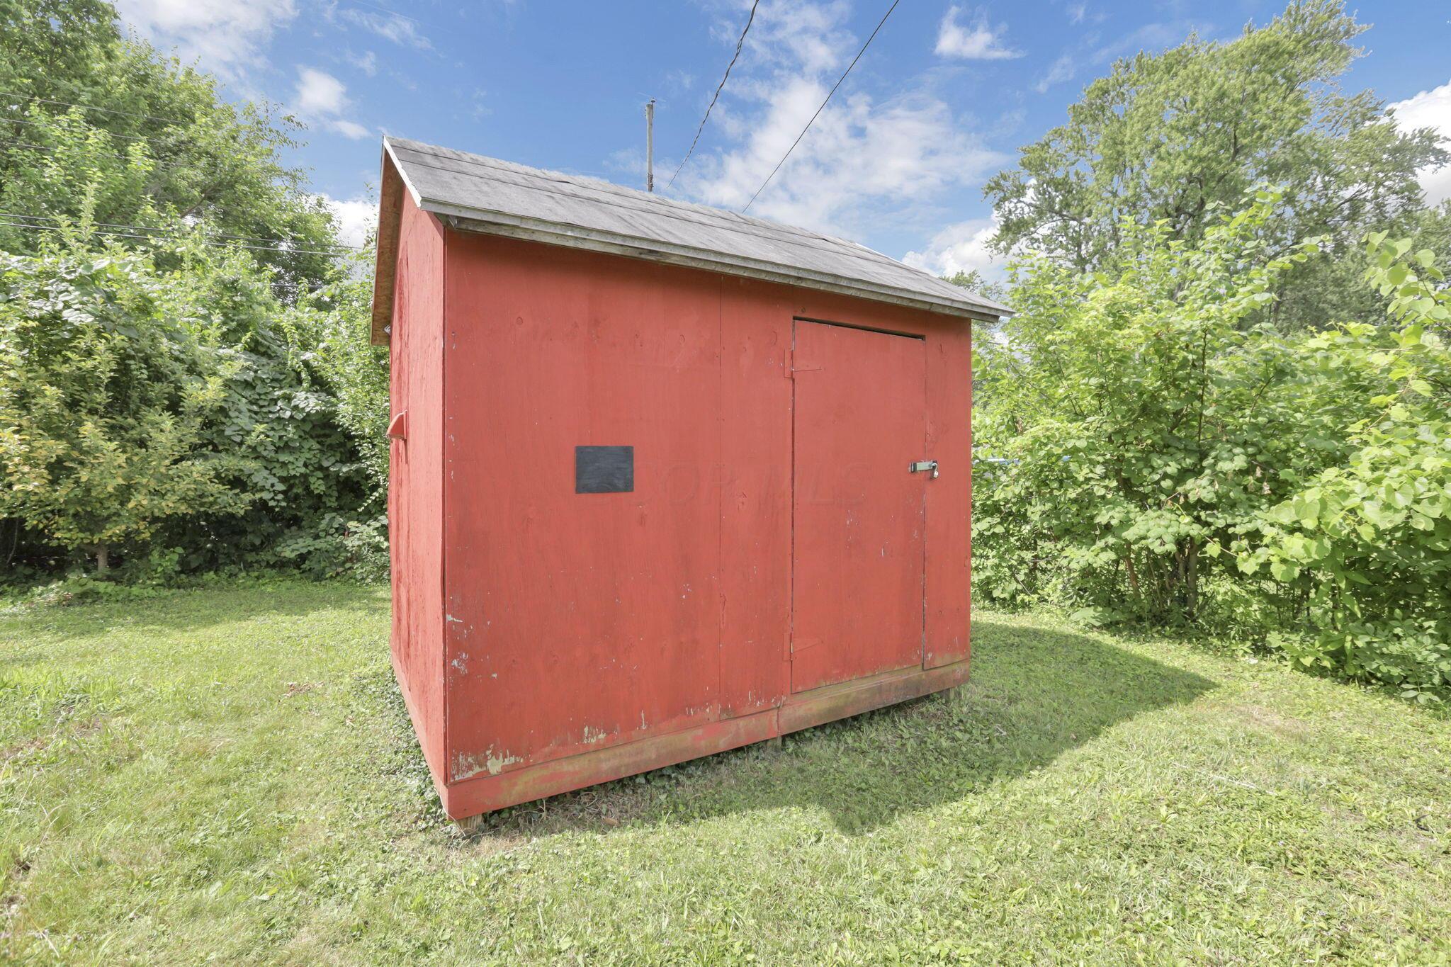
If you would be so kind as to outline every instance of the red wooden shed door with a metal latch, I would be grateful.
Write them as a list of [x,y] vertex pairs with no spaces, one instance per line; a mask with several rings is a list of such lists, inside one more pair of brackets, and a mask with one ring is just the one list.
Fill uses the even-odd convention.
[[795,322],[791,690],[920,665],[924,342]]

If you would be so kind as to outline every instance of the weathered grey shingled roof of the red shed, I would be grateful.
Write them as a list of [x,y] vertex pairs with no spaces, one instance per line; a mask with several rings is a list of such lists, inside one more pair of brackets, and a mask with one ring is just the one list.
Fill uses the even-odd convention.
[[385,138],[383,152],[376,336],[392,313],[393,258],[386,249],[396,241],[398,213],[396,200],[390,206],[387,197],[389,162],[419,209],[463,231],[692,265],[969,319],[1010,313],[930,273],[820,232],[418,141]]

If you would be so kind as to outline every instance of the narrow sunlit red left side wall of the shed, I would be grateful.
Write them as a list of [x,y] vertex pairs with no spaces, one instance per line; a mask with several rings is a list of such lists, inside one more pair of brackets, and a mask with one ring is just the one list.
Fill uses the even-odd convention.
[[389,339],[393,416],[387,519],[393,570],[393,667],[435,781],[444,765],[443,331],[444,232],[403,199]]

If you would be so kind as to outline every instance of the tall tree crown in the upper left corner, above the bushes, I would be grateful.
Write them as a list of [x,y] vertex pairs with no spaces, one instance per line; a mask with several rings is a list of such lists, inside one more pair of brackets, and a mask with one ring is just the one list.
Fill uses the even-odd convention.
[[109,3],[0,0],[0,249],[36,252],[64,220],[128,248],[152,232],[118,226],[190,226],[257,245],[287,297],[334,275],[332,216],[281,162],[300,125],[123,38]]

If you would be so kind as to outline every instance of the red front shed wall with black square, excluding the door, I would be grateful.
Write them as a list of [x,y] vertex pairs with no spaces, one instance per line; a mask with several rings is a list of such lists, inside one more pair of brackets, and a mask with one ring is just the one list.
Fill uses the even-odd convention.
[[[503,776],[583,752],[621,747],[609,768],[628,774],[622,747],[638,739],[712,722],[718,747],[776,732],[791,687],[795,319],[926,338],[923,457],[942,477],[926,489],[923,665],[966,658],[965,320],[490,235],[447,232],[445,262],[448,748],[435,777],[498,777],[509,797],[524,793]],[[633,445],[634,491],[576,494],[577,445]]]

